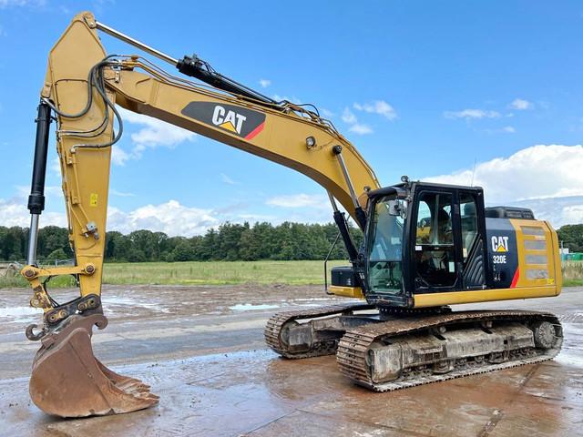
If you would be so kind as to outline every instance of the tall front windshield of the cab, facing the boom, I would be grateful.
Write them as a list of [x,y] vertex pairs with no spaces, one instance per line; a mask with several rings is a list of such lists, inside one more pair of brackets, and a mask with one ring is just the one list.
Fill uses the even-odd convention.
[[368,279],[373,292],[402,289],[403,229],[406,206],[395,195],[376,201],[368,239]]

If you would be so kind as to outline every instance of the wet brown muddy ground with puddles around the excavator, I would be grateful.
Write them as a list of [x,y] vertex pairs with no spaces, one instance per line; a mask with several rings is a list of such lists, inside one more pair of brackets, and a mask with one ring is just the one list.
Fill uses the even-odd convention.
[[28,398],[37,344],[23,331],[38,319],[28,294],[0,290],[0,435],[583,435],[583,288],[458,307],[556,313],[565,329],[556,360],[373,393],[344,379],[333,357],[288,361],[266,350],[262,329],[272,312],[337,301],[319,287],[106,287],[109,326],[94,336],[96,355],[147,381],[160,404],[67,421]]

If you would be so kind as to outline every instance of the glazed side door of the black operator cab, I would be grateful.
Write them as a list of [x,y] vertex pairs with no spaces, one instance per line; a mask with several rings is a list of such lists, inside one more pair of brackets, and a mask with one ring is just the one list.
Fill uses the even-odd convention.
[[451,193],[421,193],[415,229],[415,288],[452,287],[457,277]]

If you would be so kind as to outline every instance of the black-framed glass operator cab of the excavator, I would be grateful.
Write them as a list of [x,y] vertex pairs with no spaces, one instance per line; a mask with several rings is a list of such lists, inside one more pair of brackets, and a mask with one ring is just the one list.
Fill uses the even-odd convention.
[[367,300],[411,306],[414,294],[486,288],[482,188],[407,181],[368,195]]

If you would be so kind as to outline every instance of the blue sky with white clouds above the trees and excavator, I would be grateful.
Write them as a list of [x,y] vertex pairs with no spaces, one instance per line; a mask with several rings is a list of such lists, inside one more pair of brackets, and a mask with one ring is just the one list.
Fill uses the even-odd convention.
[[[382,185],[402,175],[473,184],[488,205],[533,208],[555,227],[583,223],[583,3],[147,4],[0,0],[0,225],[28,226],[46,56],[83,10],[170,56],[196,53],[267,96],[316,105]],[[110,36],[102,43],[109,53],[137,51]],[[191,236],[225,221],[331,221],[311,179],[122,115],[108,230]],[[49,148],[41,226],[66,226],[54,134]]]

